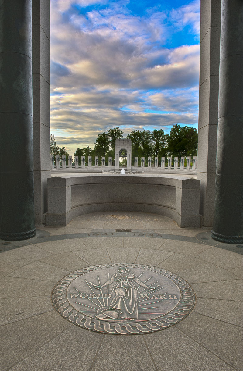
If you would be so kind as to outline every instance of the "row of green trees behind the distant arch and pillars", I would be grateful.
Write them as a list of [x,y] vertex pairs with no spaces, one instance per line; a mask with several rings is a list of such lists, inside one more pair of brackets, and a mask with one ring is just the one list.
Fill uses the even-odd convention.
[[[88,161],[88,156],[94,157],[105,156],[105,162],[108,165],[108,157],[115,156],[115,140],[122,138],[123,131],[118,127],[109,129],[98,135],[94,144],[94,149],[87,146],[86,148],[77,148],[74,156],[78,156],[78,162],[81,165],[81,156],[85,156],[85,162]],[[173,125],[170,134],[165,134],[162,129],[150,130],[134,130],[128,134],[126,138],[131,139],[132,142],[132,161],[134,157],[181,157],[181,156],[196,156],[198,151],[198,132],[195,128],[189,126],[180,127],[179,124]],[[55,142],[55,137],[51,134],[51,154],[66,156],[68,159],[69,154],[65,147],[58,147]]]

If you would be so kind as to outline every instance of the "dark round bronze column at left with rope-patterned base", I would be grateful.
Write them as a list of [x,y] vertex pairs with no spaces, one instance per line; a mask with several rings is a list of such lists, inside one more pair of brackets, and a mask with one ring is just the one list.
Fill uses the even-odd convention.
[[31,0],[0,0],[0,238],[36,234]]

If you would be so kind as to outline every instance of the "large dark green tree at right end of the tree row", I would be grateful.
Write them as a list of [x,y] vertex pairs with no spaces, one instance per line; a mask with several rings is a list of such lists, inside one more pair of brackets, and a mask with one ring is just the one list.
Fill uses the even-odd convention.
[[171,156],[196,156],[198,132],[189,126],[173,125],[170,134],[166,134],[167,149]]

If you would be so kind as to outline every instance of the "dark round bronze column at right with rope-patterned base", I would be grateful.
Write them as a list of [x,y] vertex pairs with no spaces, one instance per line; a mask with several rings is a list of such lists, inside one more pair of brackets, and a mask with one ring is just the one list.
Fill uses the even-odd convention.
[[243,1],[222,0],[213,239],[243,243]]

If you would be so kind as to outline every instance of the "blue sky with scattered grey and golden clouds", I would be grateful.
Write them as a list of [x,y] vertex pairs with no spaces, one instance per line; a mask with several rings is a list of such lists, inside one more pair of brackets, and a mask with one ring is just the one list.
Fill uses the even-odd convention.
[[198,128],[200,0],[51,0],[51,133]]

